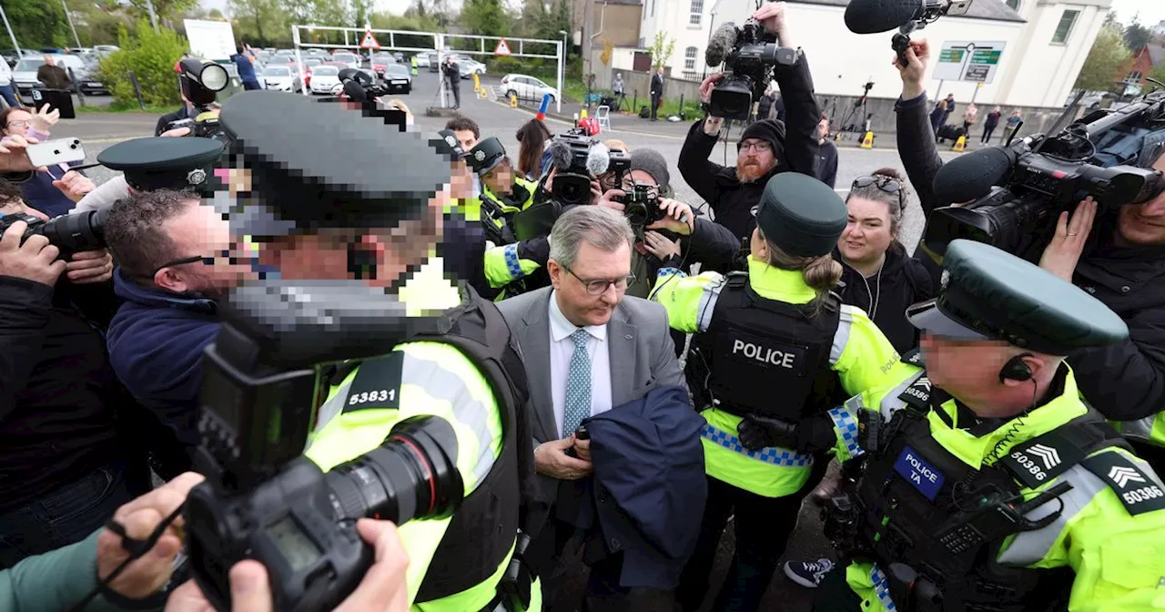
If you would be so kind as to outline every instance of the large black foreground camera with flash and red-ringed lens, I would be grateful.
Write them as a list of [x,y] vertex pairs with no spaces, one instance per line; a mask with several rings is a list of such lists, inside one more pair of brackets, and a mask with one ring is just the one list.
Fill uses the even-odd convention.
[[276,610],[332,610],[373,562],[356,519],[447,516],[464,485],[457,435],[436,416],[397,423],[380,446],[325,473],[302,456],[317,398],[343,359],[383,354],[451,323],[410,319],[382,289],[287,281],[233,290],[224,321],[203,371],[198,466],[207,478],[184,509],[192,574],[226,611],[231,568],[254,558],[267,567]]

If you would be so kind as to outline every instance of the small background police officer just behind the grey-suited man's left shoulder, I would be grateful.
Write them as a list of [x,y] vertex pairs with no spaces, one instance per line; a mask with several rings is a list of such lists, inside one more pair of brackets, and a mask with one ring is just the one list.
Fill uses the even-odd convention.
[[550,258],[548,237],[518,240],[515,235],[517,217],[535,205],[538,183],[513,170],[506,148],[496,138],[478,142],[466,159],[481,177],[481,224],[487,240],[485,270],[489,286],[500,290],[496,300],[549,284],[550,277],[543,269]]

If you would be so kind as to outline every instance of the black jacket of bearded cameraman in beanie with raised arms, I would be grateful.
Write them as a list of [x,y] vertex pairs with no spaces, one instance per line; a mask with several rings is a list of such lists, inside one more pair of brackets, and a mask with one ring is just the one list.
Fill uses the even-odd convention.
[[676,164],[689,187],[715,212],[716,223],[732,231],[737,239],[747,239],[756,227],[751,209],[761,201],[761,192],[772,175],[797,171],[817,176],[817,124],[821,120],[821,112],[813,97],[809,61],[803,56],[796,65],[778,65],[774,76],[781,87],[781,98],[788,106],[789,122],[785,124],[784,159],[777,160],[777,167],[769,175],[753,183],[741,183],[736,178],[735,163],[725,167],[708,161],[716,146],[716,136],[704,133],[702,119],[687,132]]

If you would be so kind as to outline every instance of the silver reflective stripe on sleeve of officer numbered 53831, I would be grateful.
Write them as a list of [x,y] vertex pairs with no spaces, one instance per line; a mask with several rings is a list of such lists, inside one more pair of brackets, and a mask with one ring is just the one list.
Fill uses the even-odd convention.
[[[479,483],[489,473],[489,470],[494,466],[494,442],[501,437],[501,431],[493,431],[489,427],[490,421],[494,417],[494,407],[487,406],[481,399],[475,398],[473,391],[461,379],[456,372],[445,368],[436,359],[421,358],[414,354],[417,353],[429,353],[431,357],[437,357],[435,351],[430,346],[432,343],[417,343],[417,344],[405,344],[397,346],[396,350],[404,350],[404,364],[401,371],[401,384],[402,398],[409,398],[411,393],[407,387],[419,386],[423,389],[423,394],[426,399],[435,402],[445,402],[452,411],[452,421],[456,421],[454,425],[458,432],[465,432],[469,430],[474,434],[478,439],[478,457],[473,464],[473,476],[475,488]],[[437,350],[447,349],[449,351],[456,352],[461,356],[460,351],[449,345],[438,345]],[[442,351],[444,352],[444,351]],[[428,357],[428,356],[426,356]],[[465,359],[463,357],[463,359]],[[466,360],[468,365],[468,361]],[[480,374],[479,374],[480,375]],[[355,379],[355,372],[353,372],[339,387],[333,387],[333,393],[331,398],[319,409],[319,418],[316,425],[316,431],[318,432],[329,421],[340,415],[344,411],[345,402],[348,396],[348,388],[352,386],[352,381]],[[414,416],[416,414],[424,414],[425,410],[410,410],[408,416]],[[438,416],[444,416],[445,413],[436,413]],[[447,414],[447,413],[445,413]],[[460,464],[461,462],[458,460]]]

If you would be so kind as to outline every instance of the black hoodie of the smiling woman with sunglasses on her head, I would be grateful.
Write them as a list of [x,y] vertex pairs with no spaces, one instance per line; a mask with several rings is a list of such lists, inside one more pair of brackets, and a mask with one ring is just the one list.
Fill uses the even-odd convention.
[[918,346],[918,330],[906,321],[906,308],[937,293],[922,262],[911,259],[901,244],[894,242],[885,252],[882,270],[867,279],[846,263],[836,248],[833,258],[842,267],[845,286],[838,290],[841,301],[864,310],[899,353]]

